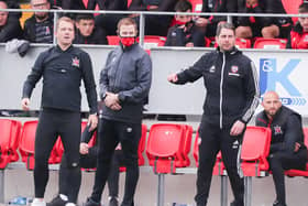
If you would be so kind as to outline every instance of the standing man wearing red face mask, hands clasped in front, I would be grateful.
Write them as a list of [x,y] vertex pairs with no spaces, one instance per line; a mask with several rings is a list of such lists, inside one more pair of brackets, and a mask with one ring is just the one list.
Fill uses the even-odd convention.
[[146,101],[152,62],[147,53],[136,43],[136,24],[131,18],[118,23],[120,45],[107,57],[100,73],[99,153],[92,194],[85,206],[100,206],[101,194],[109,175],[111,160],[120,142],[127,167],[125,189],[121,206],[133,206],[139,180],[138,144],[141,138],[143,105]]

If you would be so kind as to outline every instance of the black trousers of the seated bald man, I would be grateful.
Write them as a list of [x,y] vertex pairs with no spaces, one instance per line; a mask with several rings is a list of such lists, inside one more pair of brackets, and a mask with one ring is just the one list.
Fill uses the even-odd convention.
[[285,170],[305,170],[307,150],[300,149],[296,153],[275,152],[268,156],[270,167],[273,172],[273,181],[276,189],[276,199],[286,205]]

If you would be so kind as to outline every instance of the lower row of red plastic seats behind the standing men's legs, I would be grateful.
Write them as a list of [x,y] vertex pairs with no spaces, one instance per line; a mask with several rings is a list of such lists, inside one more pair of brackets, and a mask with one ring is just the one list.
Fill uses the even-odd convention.
[[[81,129],[86,128],[87,122],[81,123]],[[34,138],[37,120],[26,121],[23,127],[20,121],[0,119],[0,169],[4,169],[8,163],[19,160],[18,149],[22,161],[26,167],[32,170],[34,166]],[[142,126],[142,138],[139,147],[139,163],[144,165],[143,152],[145,150],[147,128]],[[308,145],[308,128],[304,129],[305,144]],[[154,166],[155,173],[175,173],[176,167],[187,167],[190,165],[188,154],[190,152],[193,139],[193,128],[188,124],[156,123],[150,129],[146,155],[148,164]],[[94,145],[96,138],[89,142]],[[194,143],[194,158],[198,166],[198,133]],[[242,169],[245,176],[261,176],[262,172],[268,170],[266,156],[270,152],[271,130],[267,128],[249,126],[245,131],[242,144]],[[64,149],[58,138],[51,153],[50,163],[59,163]],[[222,156],[219,153],[215,174],[222,174],[224,170]],[[308,176],[307,171],[287,171],[292,176]]]

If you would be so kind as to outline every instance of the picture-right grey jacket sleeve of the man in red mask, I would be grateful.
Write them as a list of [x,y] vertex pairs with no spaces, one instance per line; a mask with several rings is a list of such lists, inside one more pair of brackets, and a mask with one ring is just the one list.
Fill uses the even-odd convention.
[[121,102],[136,102],[140,104],[144,100],[150,91],[152,83],[152,61],[147,54],[138,62],[136,86],[130,90],[120,91],[119,100]]

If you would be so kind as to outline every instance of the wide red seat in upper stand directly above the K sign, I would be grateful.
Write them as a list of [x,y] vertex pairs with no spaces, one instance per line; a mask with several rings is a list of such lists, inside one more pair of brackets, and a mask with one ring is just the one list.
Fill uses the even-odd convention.
[[257,37],[254,42],[254,48],[271,48],[279,50],[286,48],[287,40],[286,39],[264,39]]

